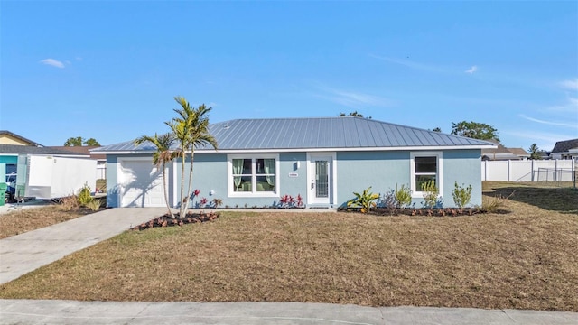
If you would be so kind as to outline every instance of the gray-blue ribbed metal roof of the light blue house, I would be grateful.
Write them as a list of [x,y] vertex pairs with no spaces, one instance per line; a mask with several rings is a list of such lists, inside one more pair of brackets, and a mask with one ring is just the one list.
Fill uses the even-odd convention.
[[[368,149],[404,147],[491,147],[487,141],[446,135],[361,117],[236,119],[210,125],[219,151]],[[202,151],[212,148],[198,148]],[[154,150],[152,144],[135,147],[132,141],[111,144],[94,152]]]

